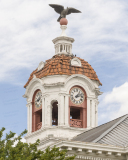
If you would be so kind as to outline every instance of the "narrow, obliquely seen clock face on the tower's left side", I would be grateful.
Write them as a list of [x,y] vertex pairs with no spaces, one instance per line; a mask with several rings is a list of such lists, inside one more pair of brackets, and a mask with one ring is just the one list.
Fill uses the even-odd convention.
[[40,108],[42,105],[42,93],[38,91],[35,95],[35,107]]

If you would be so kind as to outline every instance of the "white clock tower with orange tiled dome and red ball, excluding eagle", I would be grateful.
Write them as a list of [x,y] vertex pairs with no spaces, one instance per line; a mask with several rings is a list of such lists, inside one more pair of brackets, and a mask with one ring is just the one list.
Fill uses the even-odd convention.
[[[74,39],[65,33],[53,39],[55,55],[39,63],[27,83],[27,142],[47,137],[72,139],[98,124],[98,96],[102,85],[91,65],[72,54]],[[49,142],[49,145],[54,142]]]

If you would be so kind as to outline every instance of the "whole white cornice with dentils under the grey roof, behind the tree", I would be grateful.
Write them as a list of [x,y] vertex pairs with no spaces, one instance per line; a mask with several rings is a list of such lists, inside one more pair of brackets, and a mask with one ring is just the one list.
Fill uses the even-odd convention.
[[[112,146],[106,144],[98,144],[91,142],[78,142],[71,140],[64,140],[58,137],[48,137],[41,140],[40,149],[45,150],[47,144],[49,142],[53,142],[50,147],[60,147],[60,150],[67,149],[70,151],[68,155],[76,154],[78,159],[92,159],[92,160],[117,160],[122,159],[121,156],[127,156],[128,152],[126,152],[125,147],[120,146]],[[45,144],[45,145],[43,145]]]

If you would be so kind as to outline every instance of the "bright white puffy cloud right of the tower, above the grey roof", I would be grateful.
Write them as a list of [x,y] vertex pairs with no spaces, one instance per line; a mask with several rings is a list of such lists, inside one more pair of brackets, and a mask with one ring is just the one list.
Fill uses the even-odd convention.
[[99,122],[101,124],[125,114],[128,114],[128,82],[100,97]]

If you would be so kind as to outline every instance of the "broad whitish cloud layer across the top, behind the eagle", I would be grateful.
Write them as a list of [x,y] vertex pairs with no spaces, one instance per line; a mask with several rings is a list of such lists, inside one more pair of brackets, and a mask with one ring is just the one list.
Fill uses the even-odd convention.
[[[0,1],[0,81],[16,81],[20,69],[36,69],[54,55],[52,39],[61,33],[58,0]],[[85,60],[120,61],[128,67],[127,3],[119,0],[62,0],[82,11],[68,16],[67,35],[75,38],[73,53]]]

